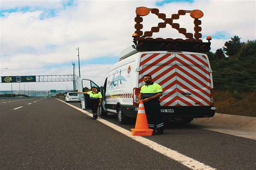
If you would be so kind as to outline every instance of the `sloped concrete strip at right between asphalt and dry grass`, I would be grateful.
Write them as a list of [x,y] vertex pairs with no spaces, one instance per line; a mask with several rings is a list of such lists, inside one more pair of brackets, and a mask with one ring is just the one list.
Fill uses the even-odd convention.
[[194,121],[256,131],[256,117],[250,116],[215,113],[213,117],[197,118]]

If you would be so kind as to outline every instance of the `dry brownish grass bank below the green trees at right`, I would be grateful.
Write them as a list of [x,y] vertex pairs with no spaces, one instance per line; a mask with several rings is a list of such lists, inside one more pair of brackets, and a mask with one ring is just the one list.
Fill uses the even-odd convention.
[[256,91],[214,91],[216,113],[256,117]]

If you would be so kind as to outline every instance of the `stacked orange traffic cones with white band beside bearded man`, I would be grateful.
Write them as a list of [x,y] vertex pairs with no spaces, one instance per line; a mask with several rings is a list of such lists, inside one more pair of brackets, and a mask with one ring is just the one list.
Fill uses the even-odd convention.
[[148,120],[143,102],[140,102],[135,128],[131,129],[132,136],[152,136],[153,129],[148,128]]

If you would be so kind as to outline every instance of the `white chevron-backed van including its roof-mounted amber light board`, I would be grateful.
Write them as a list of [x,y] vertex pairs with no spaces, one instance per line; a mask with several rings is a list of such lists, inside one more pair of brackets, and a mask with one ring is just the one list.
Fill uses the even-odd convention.
[[[164,22],[143,32],[143,16],[150,12]],[[187,13],[194,20],[194,34],[174,23]],[[134,44],[120,53],[120,60],[110,68],[102,89],[91,80],[79,78],[79,91],[98,87],[103,96],[99,115],[117,114],[118,122],[123,124],[129,118],[137,117],[143,75],[148,74],[152,76],[152,82],[163,89],[159,100],[164,119],[189,123],[194,118],[214,116],[212,70],[207,54],[204,54],[210,50],[211,37],[207,37],[208,42],[200,39],[201,20],[198,19],[201,17],[203,12],[200,10],[179,10],[168,18],[157,8],[137,8],[136,31],[132,35]],[[186,39],[152,38],[153,33],[166,25]],[[79,99],[82,109],[88,108],[89,99],[84,94],[79,94]]]

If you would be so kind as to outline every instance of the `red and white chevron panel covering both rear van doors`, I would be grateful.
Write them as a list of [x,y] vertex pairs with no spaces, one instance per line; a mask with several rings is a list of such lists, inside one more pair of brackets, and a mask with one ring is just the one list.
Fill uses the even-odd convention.
[[[139,87],[143,75],[163,88],[162,106],[209,106],[211,79],[207,57],[193,54],[143,54]],[[190,95],[184,95],[184,94]]]

